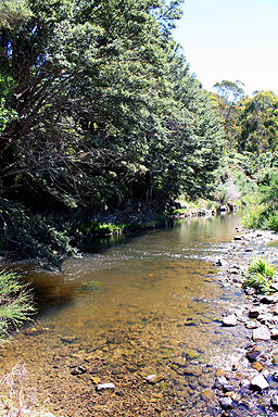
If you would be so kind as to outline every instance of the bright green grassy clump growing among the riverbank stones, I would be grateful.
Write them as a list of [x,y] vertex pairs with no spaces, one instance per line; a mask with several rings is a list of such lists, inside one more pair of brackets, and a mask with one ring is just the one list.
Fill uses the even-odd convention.
[[270,292],[277,267],[269,265],[266,258],[255,260],[248,267],[248,275],[244,287],[254,288],[257,293],[266,294]]

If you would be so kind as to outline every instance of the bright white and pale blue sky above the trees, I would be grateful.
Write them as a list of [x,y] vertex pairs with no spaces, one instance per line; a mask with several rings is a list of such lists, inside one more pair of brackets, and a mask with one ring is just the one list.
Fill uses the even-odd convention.
[[174,38],[203,88],[224,79],[278,94],[278,0],[185,0]]

